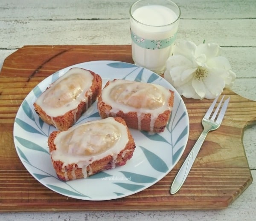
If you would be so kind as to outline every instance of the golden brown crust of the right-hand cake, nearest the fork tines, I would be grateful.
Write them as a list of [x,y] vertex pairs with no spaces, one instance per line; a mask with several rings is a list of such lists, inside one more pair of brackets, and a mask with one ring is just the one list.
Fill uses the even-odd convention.
[[[116,80],[116,79],[115,79]],[[106,85],[104,86],[107,87],[109,85],[110,81],[108,81],[106,83]],[[169,90],[171,92],[171,96],[169,97],[168,103],[169,106],[172,107],[173,103],[174,103],[174,92],[172,90]],[[103,100],[101,95],[98,98],[98,104],[97,104],[97,108],[99,111],[99,115],[101,116],[101,118],[108,118],[108,117],[121,117],[125,120],[126,125],[129,128],[133,128],[133,129],[139,129],[138,128],[138,114],[137,112],[128,112],[128,113],[124,113],[121,110],[119,112],[116,113],[112,113],[111,109],[112,107],[108,104],[106,104]],[[151,114],[145,114],[144,117],[141,119],[141,130],[145,130],[145,131],[151,131],[151,132],[163,132],[166,124],[169,121],[169,117],[170,117],[171,111],[170,110],[166,110],[163,113],[161,113],[160,115],[158,115],[157,119],[154,122],[154,126],[153,129],[151,129],[150,123],[151,123]]]

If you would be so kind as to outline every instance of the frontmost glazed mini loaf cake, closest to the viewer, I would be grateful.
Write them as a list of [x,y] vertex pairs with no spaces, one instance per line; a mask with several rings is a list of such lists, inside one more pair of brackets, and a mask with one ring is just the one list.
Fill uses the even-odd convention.
[[86,178],[126,164],[134,152],[134,139],[122,118],[106,118],[54,131],[49,152],[58,178]]

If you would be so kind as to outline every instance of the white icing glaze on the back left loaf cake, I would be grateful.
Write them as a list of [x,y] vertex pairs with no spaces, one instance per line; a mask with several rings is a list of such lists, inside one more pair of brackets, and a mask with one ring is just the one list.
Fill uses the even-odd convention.
[[50,117],[64,115],[76,109],[81,101],[87,102],[88,97],[92,95],[90,90],[92,82],[93,75],[88,70],[71,68],[53,82],[35,103]]

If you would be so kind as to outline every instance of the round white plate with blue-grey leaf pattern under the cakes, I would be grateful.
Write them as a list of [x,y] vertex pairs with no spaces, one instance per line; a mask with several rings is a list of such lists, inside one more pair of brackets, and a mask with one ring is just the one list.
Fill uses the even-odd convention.
[[[96,72],[102,77],[102,86],[115,78],[160,84],[175,91],[175,101],[164,132],[150,134],[131,129],[136,148],[133,157],[124,166],[117,166],[84,179],[61,181],[53,169],[47,146],[49,134],[56,129],[38,118],[33,103],[49,84],[71,67]],[[96,119],[100,119],[100,116],[95,102],[76,124]],[[41,184],[72,198],[110,200],[140,192],[170,172],[186,147],[189,117],[180,95],[170,83],[157,74],[131,63],[93,61],[64,68],[39,83],[23,100],[15,118],[13,135],[21,162]]]

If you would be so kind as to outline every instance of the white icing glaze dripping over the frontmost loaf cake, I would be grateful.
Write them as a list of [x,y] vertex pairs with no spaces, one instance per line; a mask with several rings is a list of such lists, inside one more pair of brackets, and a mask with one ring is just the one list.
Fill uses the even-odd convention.
[[[52,160],[63,162],[63,172],[68,164],[77,164],[87,177],[87,166],[108,155],[113,157],[115,167],[117,155],[125,148],[129,138],[127,128],[114,118],[89,121],[57,134],[51,152]],[[92,173],[89,167],[88,175]],[[75,178],[75,174],[73,174]],[[66,178],[67,180],[67,178]]]

